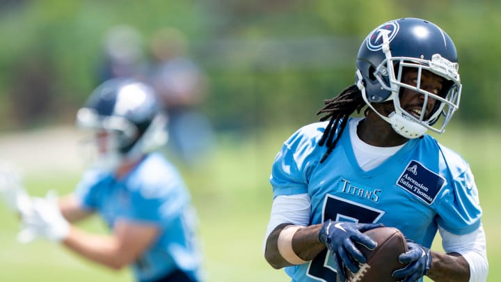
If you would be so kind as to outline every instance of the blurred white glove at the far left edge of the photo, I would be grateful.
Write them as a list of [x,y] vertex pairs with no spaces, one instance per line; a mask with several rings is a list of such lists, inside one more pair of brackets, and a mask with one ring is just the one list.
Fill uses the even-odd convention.
[[31,210],[31,198],[12,164],[0,162],[0,196],[10,210],[17,213]]

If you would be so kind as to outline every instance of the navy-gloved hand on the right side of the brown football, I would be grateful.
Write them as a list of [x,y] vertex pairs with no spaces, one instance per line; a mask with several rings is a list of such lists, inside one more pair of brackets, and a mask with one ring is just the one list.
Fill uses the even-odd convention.
[[402,269],[395,270],[393,277],[404,279],[402,280],[404,282],[413,282],[428,273],[431,267],[431,251],[411,241],[407,241],[407,246],[408,252],[399,256],[400,263],[406,263],[407,265]]

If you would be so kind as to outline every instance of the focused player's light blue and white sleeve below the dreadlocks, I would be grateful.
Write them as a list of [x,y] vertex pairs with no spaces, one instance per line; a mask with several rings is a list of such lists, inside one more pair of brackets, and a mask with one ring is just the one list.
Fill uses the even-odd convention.
[[307,125],[285,141],[271,167],[273,198],[308,193],[309,175],[319,159],[317,139],[324,128],[320,125]]

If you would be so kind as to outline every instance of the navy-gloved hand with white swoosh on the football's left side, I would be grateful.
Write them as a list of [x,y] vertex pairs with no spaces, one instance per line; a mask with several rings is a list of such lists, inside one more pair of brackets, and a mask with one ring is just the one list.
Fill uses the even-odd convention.
[[324,222],[319,233],[319,240],[331,251],[340,281],[346,281],[347,277],[343,265],[348,267],[351,272],[356,273],[359,269],[358,263],[366,263],[367,261],[363,253],[355,246],[355,242],[362,244],[367,249],[374,249],[376,242],[363,232],[382,226],[382,224],[336,222],[331,219]]

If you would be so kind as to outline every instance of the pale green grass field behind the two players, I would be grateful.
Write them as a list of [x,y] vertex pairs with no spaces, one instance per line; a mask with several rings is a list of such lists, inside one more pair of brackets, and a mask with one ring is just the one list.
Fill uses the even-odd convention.
[[[262,240],[271,205],[269,171],[282,142],[292,130],[257,132],[248,136],[219,136],[218,148],[198,169],[182,169],[200,216],[207,282],[289,281],[282,270],[269,267],[262,255]],[[479,187],[484,208],[490,273],[488,281],[501,281],[501,237],[498,219],[498,184],[501,182],[501,132],[491,128],[450,127],[440,141],[465,157]],[[0,136],[1,139],[1,136]],[[36,139],[33,139],[35,142]],[[1,156],[0,156],[1,157]],[[72,190],[79,171],[29,173],[26,187],[35,195],[56,189]],[[37,241],[21,245],[15,240],[18,221],[0,206],[0,281],[133,281],[128,269],[113,272],[75,256],[57,244]],[[97,217],[81,228],[106,232]],[[440,244],[434,246],[440,249]]]

